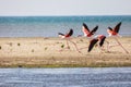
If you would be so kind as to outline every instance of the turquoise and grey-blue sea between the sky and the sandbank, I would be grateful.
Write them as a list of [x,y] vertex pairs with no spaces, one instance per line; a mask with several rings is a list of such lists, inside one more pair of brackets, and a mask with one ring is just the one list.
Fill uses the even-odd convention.
[[131,36],[131,15],[115,16],[0,16],[0,37],[58,37],[58,33],[74,30],[73,37],[83,35],[82,24],[90,29],[98,25],[97,34],[107,34],[107,27],[122,22],[119,34]]

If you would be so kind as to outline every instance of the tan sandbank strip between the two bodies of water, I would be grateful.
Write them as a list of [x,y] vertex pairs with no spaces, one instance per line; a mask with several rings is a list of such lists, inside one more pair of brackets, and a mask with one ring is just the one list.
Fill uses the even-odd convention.
[[[126,51],[116,46],[105,51],[95,46],[87,52],[88,39],[71,38],[81,49],[79,53],[66,39],[60,38],[0,38],[0,67],[73,67],[73,66],[131,66],[131,37],[118,38]],[[109,45],[116,45],[114,38],[106,39]]]

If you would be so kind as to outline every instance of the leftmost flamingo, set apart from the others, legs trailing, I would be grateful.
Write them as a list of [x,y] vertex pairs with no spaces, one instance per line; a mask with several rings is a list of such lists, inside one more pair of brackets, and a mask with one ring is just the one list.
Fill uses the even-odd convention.
[[[76,44],[73,42],[73,41],[70,39],[70,37],[73,35],[73,29],[70,29],[67,34],[58,33],[58,35],[59,35],[60,38],[63,38],[63,39],[67,40],[68,49],[70,49],[69,42],[68,42],[68,41],[70,41],[71,44],[73,44],[73,45],[75,46],[76,51],[80,52]],[[81,53],[81,52],[80,52],[80,53]]]

